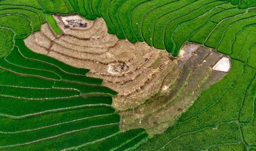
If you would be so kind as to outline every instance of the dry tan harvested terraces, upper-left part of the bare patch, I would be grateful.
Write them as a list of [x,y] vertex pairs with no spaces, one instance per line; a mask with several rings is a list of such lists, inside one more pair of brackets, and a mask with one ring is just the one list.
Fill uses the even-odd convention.
[[74,29],[66,27],[61,16],[54,18],[62,34],[55,34],[44,24],[40,32],[24,40],[25,44],[37,53],[77,68],[90,69],[86,75],[104,79],[102,85],[118,92],[113,98],[113,106],[118,110],[139,106],[161,89],[164,80],[169,87],[179,77],[177,60],[170,59],[167,51],[145,43],[118,40],[107,33],[103,19],[83,19],[81,22],[88,27]]

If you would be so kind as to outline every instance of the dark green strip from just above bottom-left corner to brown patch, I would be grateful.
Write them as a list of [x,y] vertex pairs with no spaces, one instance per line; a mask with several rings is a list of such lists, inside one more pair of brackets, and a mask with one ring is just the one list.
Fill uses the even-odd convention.
[[[85,118],[85,119],[74,120],[69,123],[42,127],[41,129],[37,129],[33,131],[0,134],[0,138],[1,138],[0,144],[1,146],[7,146],[12,144],[32,142],[32,141],[40,140],[43,138],[61,135],[67,132],[72,132],[72,131],[81,130],[81,129],[88,129],[89,127],[92,127],[92,126],[101,126],[101,125],[118,123],[119,120],[120,118],[118,114],[111,114],[111,115],[100,116],[95,118],[88,118],[88,119]],[[134,132],[134,134],[136,133]],[[104,134],[100,134],[100,133],[99,135],[104,136]],[[133,136],[133,132],[128,132],[128,135]],[[73,135],[70,135],[70,136],[73,136]],[[55,139],[55,140],[58,140],[58,139]],[[122,142],[124,141],[120,140],[120,143]]]

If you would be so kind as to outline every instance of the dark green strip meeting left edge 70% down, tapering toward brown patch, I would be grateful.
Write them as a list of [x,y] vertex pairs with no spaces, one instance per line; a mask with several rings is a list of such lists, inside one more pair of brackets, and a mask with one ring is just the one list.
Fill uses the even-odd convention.
[[[43,92],[43,91],[42,91]],[[0,97],[0,113],[21,116],[51,109],[82,106],[86,104],[112,104],[112,97],[90,96],[58,98],[52,100],[25,100],[12,97]]]

